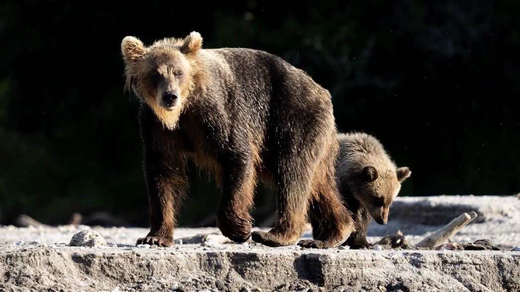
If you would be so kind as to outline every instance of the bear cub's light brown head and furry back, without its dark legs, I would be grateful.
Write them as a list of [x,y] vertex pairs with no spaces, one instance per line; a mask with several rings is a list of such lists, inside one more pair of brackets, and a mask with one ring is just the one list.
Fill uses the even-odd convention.
[[338,134],[340,153],[336,176],[343,196],[352,195],[379,224],[386,224],[388,210],[411,175],[397,168],[374,137],[364,133]]

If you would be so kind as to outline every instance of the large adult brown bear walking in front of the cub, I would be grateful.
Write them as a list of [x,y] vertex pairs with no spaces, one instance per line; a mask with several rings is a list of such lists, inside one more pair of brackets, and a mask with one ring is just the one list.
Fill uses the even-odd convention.
[[222,188],[218,228],[236,242],[251,236],[258,178],[274,183],[278,219],[254,232],[268,246],[293,244],[307,211],[324,232],[305,246],[342,244],[354,230],[334,180],[338,144],[329,92],[267,52],[201,49],[202,37],[165,38],[145,47],[127,36],[126,87],[141,99],[139,122],[151,230],[137,244],[173,244],[191,157]]

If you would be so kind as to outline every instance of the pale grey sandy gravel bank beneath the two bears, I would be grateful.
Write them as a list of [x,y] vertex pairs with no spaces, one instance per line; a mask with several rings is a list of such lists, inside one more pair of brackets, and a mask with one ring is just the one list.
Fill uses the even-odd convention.
[[[520,245],[516,196],[400,197],[388,225],[372,223],[369,241],[400,229],[410,243],[417,243],[472,210],[479,217],[452,241],[490,238],[506,251],[269,248],[226,243],[215,228],[177,228],[177,243],[181,239],[184,244],[154,249],[134,246],[148,232],[144,228],[4,226],[0,291],[520,290],[520,252],[509,251]],[[98,232],[107,246],[67,246],[72,235],[85,229]]]

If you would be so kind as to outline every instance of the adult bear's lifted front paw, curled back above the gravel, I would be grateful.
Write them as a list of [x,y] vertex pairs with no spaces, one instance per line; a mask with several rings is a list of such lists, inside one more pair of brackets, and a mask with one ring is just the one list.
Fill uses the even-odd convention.
[[230,240],[243,243],[251,236],[252,219],[249,214],[239,216],[217,212],[217,227]]

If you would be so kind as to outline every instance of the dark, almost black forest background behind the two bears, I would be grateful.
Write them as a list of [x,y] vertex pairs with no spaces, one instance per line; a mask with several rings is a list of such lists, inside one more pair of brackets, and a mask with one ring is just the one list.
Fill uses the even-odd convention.
[[[411,168],[400,195],[520,191],[520,2],[313,3],[0,2],[0,223],[108,211],[147,224],[126,35],[198,31],[206,48],[266,50],[307,71],[340,130],[375,135]],[[181,223],[211,224],[218,192],[189,171]]]

